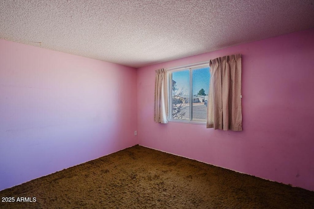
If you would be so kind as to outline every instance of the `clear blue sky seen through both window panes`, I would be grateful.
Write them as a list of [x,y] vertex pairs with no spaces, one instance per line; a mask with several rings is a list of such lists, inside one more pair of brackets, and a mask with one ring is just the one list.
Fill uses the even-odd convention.
[[[197,94],[201,89],[205,90],[205,93],[208,94],[209,91],[209,67],[192,70],[192,78],[193,78],[193,95]],[[189,70],[181,70],[172,72],[172,80],[176,81],[177,88],[179,91],[183,87],[186,89],[187,94],[189,91]]]

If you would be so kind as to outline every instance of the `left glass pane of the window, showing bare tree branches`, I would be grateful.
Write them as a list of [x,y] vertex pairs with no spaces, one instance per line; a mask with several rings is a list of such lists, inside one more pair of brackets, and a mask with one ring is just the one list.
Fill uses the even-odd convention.
[[189,86],[189,70],[172,72],[172,119],[190,119]]

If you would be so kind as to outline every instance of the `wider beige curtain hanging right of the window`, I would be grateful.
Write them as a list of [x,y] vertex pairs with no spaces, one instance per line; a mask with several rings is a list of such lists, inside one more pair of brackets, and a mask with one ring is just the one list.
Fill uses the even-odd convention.
[[207,128],[242,131],[241,55],[209,61]]

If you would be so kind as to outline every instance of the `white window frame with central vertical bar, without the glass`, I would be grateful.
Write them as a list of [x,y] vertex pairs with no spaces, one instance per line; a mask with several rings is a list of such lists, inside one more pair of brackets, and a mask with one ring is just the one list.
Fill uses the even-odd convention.
[[[193,120],[193,76],[192,70],[201,69],[201,68],[209,68],[209,61],[207,62],[200,62],[190,65],[184,65],[180,67],[174,67],[167,69],[167,84],[168,84],[168,121],[169,122],[179,122],[179,123],[189,123],[189,124],[199,124],[199,125],[206,125],[206,121],[200,122]],[[182,120],[182,119],[172,119],[172,72],[181,71],[181,70],[189,70],[189,77],[190,77],[190,85],[189,85],[189,120]],[[210,79],[210,78],[209,78]],[[171,81],[171,82],[170,82]],[[192,104],[192,105],[191,105]]]

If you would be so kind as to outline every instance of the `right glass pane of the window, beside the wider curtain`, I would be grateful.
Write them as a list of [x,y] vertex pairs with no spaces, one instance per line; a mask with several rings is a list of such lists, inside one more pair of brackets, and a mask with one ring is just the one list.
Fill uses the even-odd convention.
[[192,70],[192,120],[206,122],[209,67]]

